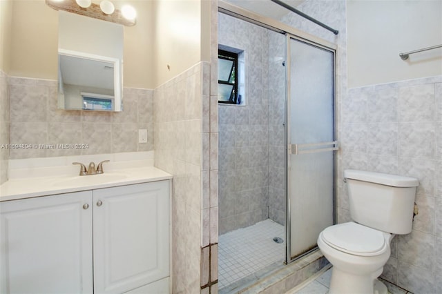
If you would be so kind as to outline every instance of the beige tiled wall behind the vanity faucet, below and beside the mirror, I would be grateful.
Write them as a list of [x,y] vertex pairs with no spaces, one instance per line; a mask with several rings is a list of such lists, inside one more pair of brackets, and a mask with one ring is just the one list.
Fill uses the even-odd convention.
[[[57,109],[53,80],[10,77],[9,90],[10,143],[32,146],[10,150],[10,159],[153,150],[153,90],[124,88],[122,112]],[[148,130],[147,143],[138,143],[138,129]]]

